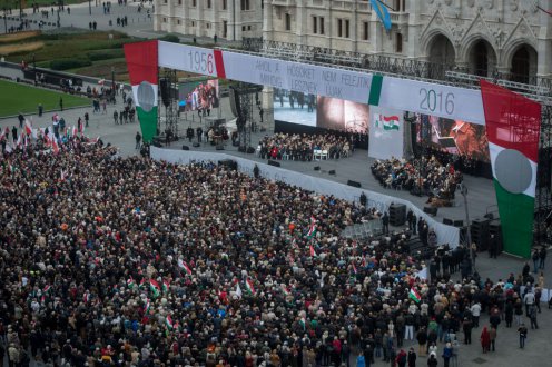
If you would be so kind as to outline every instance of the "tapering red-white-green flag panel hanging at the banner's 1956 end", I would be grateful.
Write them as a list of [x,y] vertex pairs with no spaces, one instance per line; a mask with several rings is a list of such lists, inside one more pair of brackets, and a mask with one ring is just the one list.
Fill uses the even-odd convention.
[[158,43],[156,40],[127,43],[125,58],[142,140],[151,142],[157,132]]

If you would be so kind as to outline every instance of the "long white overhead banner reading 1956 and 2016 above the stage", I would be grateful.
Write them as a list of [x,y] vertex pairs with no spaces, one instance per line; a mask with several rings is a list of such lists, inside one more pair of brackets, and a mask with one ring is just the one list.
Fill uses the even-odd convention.
[[484,125],[481,91],[159,41],[159,66]]

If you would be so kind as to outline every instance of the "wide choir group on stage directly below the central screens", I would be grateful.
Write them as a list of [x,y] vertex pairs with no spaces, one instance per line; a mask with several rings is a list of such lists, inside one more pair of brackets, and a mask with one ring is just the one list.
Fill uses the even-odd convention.
[[[315,152],[324,159],[339,159],[352,155],[354,146],[342,136],[332,133],[299,135],[275,133],[266,136],[259,141],[259,155],[263,159],[287,159],[310,161],[316,159]],[[323,158],[321,158],[323,159]]]

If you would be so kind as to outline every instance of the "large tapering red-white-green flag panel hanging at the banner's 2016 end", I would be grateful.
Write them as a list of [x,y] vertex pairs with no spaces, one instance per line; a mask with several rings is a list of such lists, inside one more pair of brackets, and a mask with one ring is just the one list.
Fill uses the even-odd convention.
[[529,258],[541,105],[485,80],[480,82],[504,251]]

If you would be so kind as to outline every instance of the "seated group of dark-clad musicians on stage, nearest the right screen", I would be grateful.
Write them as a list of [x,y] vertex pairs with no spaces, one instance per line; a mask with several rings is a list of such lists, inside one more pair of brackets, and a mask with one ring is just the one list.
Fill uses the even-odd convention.
[[407,190],[417,196],[430,196],[441,200],[453,200],[462,173],[451,163],[442,165],[435,156],[431,158],[376,160],[371,167],[379,184],[387,188]]

